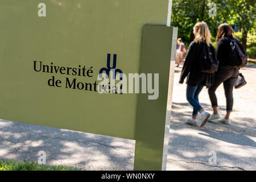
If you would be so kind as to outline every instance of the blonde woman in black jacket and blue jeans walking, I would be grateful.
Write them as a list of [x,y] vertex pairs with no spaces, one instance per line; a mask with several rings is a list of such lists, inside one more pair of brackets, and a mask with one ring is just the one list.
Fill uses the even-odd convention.
[[[180,75],[180,84],[183,84],[187,77],[187,100],[193,106],[192,118],[186,123],[188,125],[203,127],[210,114],[207,113],[199,103],[199,94],[204,86],[210,87],[213,82],[213,74],[202,72],[206,66],[201,57],[207,56],[209,59],[215,59],[215,51],[210,44],[210,31],[205,22],[196,23],[193,27],[195,39],[190,44]],[[197,115],[199,117],[197,118]]]

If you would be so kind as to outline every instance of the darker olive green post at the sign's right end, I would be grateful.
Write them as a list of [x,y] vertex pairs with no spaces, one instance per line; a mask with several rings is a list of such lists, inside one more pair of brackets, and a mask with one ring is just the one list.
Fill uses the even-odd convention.
[[139,95],[134,169],[166,170],[176,39],[177,28],[143,28],[141,72],[159,73],[159,98]]

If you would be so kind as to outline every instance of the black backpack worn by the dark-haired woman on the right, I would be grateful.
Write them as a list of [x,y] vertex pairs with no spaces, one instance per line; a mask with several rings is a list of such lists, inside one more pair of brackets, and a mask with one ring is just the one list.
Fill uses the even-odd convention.
[[229,65],[234,68],[242,68],[245,67],[247,64],[247,59],[249,56],[247,56],[245,49],[243,48],[242,44],[238,39],[235,38],[229,38],[230,40],[230,61]]

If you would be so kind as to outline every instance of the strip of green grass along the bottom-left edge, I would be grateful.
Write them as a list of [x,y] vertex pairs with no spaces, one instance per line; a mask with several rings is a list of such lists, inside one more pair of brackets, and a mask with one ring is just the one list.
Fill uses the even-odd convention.
[[35,162],[0,160],[0,171],[80,171],[80,169],[63,166],[46,166]]

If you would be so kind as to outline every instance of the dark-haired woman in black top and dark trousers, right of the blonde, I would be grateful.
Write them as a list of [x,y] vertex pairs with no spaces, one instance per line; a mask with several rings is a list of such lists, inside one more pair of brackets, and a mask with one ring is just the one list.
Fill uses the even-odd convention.
[[[209,121],[218,119],[219,122],[230,125],[230,114],[233,109],[233,88],[234,81],[238,76],[238,68],[232,65],[232,55],[229,54],[232,47],[230,46],[231,39],[234,38],[234,30],[228,23],[222,23],[218,27],[218,33],[216,37],[217,43],[217,60],[220,61],[218,71],[214,76],[213,85],[208,89],[210,102],[212,102],[213,114],[210,115]],[[236,41],[239,42],[238,39]],[[218,103],[216,97],[216,89],[220,84],[224,85],[226,96],[226,115],[225,118],[221,118],[218,114]]]

